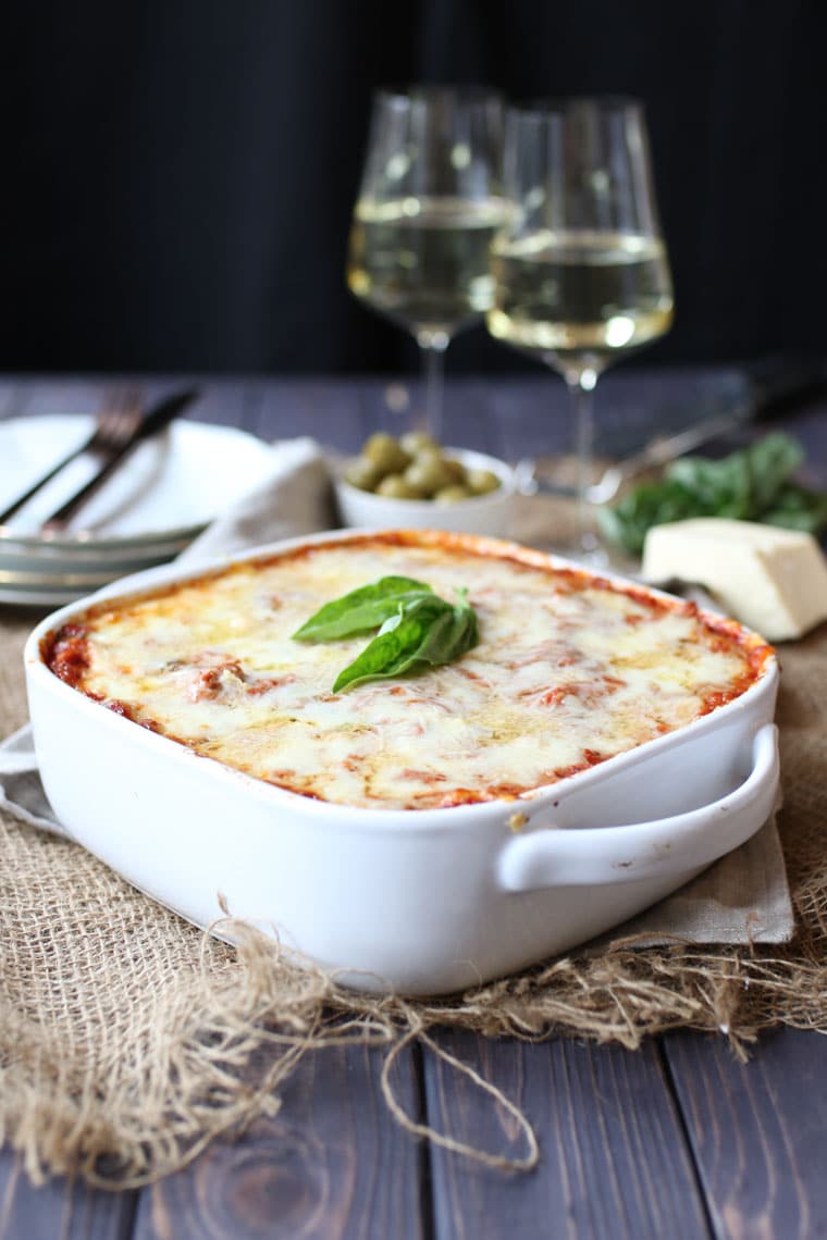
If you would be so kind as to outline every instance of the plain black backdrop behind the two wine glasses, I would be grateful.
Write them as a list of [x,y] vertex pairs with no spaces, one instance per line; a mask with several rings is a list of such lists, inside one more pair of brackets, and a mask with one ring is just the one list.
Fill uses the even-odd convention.
[[[6,4],[0,368],[391,372],[343,284],[371,91],[647,108],[677,319],[652,362],[820,351],[821,0]],[[459,337],[449,371],[529,366]]]

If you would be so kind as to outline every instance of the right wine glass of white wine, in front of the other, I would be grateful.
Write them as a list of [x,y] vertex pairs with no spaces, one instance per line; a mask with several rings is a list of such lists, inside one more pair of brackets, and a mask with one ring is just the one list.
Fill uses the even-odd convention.
[[593,392],[608,366],[668,331],[673,312],[641,103],[510,108],[503,185],[513,210],[491,247],[487,327],[567,383],[578,461],[573,554],[601,563],[589,502]]

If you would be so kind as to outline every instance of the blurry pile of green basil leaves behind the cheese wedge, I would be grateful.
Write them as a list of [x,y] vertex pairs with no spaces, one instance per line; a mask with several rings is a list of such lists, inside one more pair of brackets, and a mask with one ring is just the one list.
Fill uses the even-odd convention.
[[827,494],[792,481],[805,458],[801,444],[774,433],[712,460],[682,456],[661,480],[642,482],[614,506],[598,508],[603,534],[632,556],[652,526],[689,517],[760,521],[818,534],[827,527]]

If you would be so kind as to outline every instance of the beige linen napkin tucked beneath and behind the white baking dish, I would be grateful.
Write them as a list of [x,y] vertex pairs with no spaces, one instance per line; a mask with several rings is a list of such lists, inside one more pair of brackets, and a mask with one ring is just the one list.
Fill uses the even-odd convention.
[[[532,501],[521,502],[515,537],[533,542],[537,512]],[[273,445],[273,470],[267,480],[222,513],[180,560],[198,564],[336,523],[330,469],[320,445],[307,438],[278,443]],[[29,727],[0,744],[0,807],[32,826],[63,833],[40,782]],[[626,936],[634,937],[634,946],[673,939],[699,944],[786,942],[792,930],[784,854],[772,817],[735,852],[593,947]]]

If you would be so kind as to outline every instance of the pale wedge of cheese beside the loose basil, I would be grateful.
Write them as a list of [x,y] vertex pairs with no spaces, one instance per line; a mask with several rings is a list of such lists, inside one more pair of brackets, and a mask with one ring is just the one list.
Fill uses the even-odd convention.
[[698,582],[770,641],[801,637],[827,619],[827,562],[812,534],[798,531],[720,517],[653,526],[642,575]]

